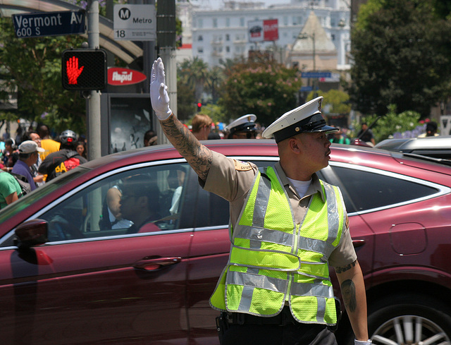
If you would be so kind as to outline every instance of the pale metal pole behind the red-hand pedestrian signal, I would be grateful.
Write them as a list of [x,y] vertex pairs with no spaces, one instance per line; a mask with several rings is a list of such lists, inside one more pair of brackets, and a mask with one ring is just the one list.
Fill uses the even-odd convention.
[[[99,1],[88,0],[87,42],[89,49],[99,49]],[[89,91],[87,97],[87,147],[89,160],[101,157],[100,92]]]

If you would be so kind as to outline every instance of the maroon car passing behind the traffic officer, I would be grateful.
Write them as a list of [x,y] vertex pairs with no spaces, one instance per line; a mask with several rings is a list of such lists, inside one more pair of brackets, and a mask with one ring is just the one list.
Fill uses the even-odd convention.
[[[278,160],[273,140],[205,144]],[[106,194],[125,198],[137,175],[157,187],[159,217],[133,229],[114,221]],[[450,344],[451,167],[333,145],[319,176],[345,198],[373,344]],[[83,164],[1,210],[0,224],[2,344],[218,344],[209,296],[228,258],[228,202],[173,147]],[[353,339],[345,314],[337,337]]]

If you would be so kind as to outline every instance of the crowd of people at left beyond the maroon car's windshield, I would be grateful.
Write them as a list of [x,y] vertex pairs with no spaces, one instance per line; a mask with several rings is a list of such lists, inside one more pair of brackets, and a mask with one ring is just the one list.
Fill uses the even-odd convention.
[[18,131],[16,138],[5,134],[0,143],[4,146],[0,152],[0,208],[87,162],[86,140],[74,131],[51,138],[49,126],[40,123],[25,133]]

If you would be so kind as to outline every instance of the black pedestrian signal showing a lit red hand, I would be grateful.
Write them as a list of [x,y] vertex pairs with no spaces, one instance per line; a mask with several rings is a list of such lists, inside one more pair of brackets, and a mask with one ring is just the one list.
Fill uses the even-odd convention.
[[61,61],[66,90],[103,90],[106,86],[106,52],[103,49],[68,49]]

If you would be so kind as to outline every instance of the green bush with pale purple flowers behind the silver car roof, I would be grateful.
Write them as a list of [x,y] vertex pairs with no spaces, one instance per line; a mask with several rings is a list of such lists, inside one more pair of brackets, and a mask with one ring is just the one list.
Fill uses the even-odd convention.
[[[366,122],[370,125],[377,117],[377,115],[364,116],[362,123]],[[389,106],[388,114],[378,119],[376,125],[371,128],[376,143],[390,138],[393,133],[414,130],[416,126],[421,124],[419,123],[420,117],[421,115],[415,111],[403,111],[402,113],[397,114],[395,105],[391,104]],[[360,126],[357,127],[360,129]],[[354,133],[354,136],[356,135],[357,133]]]

